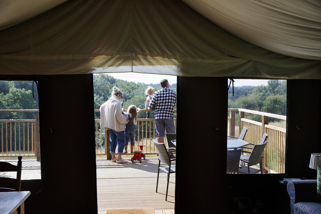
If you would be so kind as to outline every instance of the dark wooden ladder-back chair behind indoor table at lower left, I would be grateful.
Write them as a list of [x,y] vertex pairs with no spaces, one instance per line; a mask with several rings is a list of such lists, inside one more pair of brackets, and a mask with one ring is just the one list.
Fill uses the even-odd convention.
[[20,191],[21,169],[22,169],[21,160],[22,160],[22,156],[18,156],[18,165],[13,165],[8,162],[0,162],[0,172],[17,172],[16,178],[0,177],[0,183],[10,183],[9,185],[12,185],[15,187],[14,189],[0,188],[0,192]]

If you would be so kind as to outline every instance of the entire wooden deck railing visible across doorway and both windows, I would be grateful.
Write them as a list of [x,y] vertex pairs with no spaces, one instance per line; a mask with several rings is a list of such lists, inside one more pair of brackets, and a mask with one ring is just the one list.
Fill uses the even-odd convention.
[[[150,110],[142,110],[143,112]],[[176,111],[176,109],[174,110]],[[248,131],[245,136],[247,142],[257,144],[263,133],[266,132],[268,144],[264,151],[264,168],[265,172],[284,173],[285,172],[285,138],[286,129],[269,125],[269,118],[277,118],[286,120],[286,116],[265,113],[260,111],[252,111],[247,109],[228,109],[230,117],[228,118],[228,135],[235,136],[235,113],[239,112],[239,132],[243,126]],[[1,123],[1,149],[0,157],[16,157],[19,155],[26,157],[37,157],[40,159],[39,144],[39,112],[38,110],[0,110],[0,112],[35,112],[36,119],[32,120],[0,120]],[[99,110],[95,110],[99,112]],[[257,122],[244,118],[244,113],[261,115],[262,121]],[[176,128],[176,118],[174,118]],[[102,156],[109,154],[109,133],[105,133],[100,128],[100,120],[95,120],[95,137],[96,137],[96,155]],[[155,139],[155,121],[154,119],[137,119],[135,149],[137,145],[144,145],[143,152],[147,155],[156,155],[152,139]],[[106,140],[107,139],[107,140]],[[106,149],[105,149],[106,142]],[[165,138],[165,144],[168,146]],[[124,155],[133,155],[127,153]]]

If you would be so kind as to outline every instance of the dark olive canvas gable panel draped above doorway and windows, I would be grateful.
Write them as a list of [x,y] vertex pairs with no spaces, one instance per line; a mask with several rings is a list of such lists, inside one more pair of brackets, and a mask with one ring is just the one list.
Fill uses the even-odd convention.
[[[27,15],[37,15],[33,18],[22,17],[27,19],[24,22],[4,22],[5,26],[17,24],[2,26],[0,31],[1,74],[134,71],[321,78],[320,60],[260,48],[223,30],[182,1],[66,1],[43,9],[46,12]],[[316,25],[317,32],[320,21]],[[320,34],[311,39],[320,43]],[[320,54],[320,47],[314,52]],[[310,57],[318,57],[315,55]]]

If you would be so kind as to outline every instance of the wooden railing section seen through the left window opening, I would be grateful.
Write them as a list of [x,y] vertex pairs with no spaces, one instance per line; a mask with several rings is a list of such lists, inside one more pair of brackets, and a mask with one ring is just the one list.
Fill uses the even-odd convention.
[[0,120],[0,157],[37,157],[39,153],[39,111],[38,110],[0,110],[0,112],[35,112],[33,120]]

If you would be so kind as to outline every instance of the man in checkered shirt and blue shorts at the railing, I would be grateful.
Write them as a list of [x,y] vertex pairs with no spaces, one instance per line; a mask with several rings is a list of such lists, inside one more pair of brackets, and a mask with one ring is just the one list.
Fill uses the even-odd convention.
[[164,143],[166,133],[175,134],[174,107],[176,105],[176,92],[169,89],[167,79],[160,81],[162,89],[156,91],[152,100],[148,103],[149,108],[155,108],[155,127],[157,142]]

